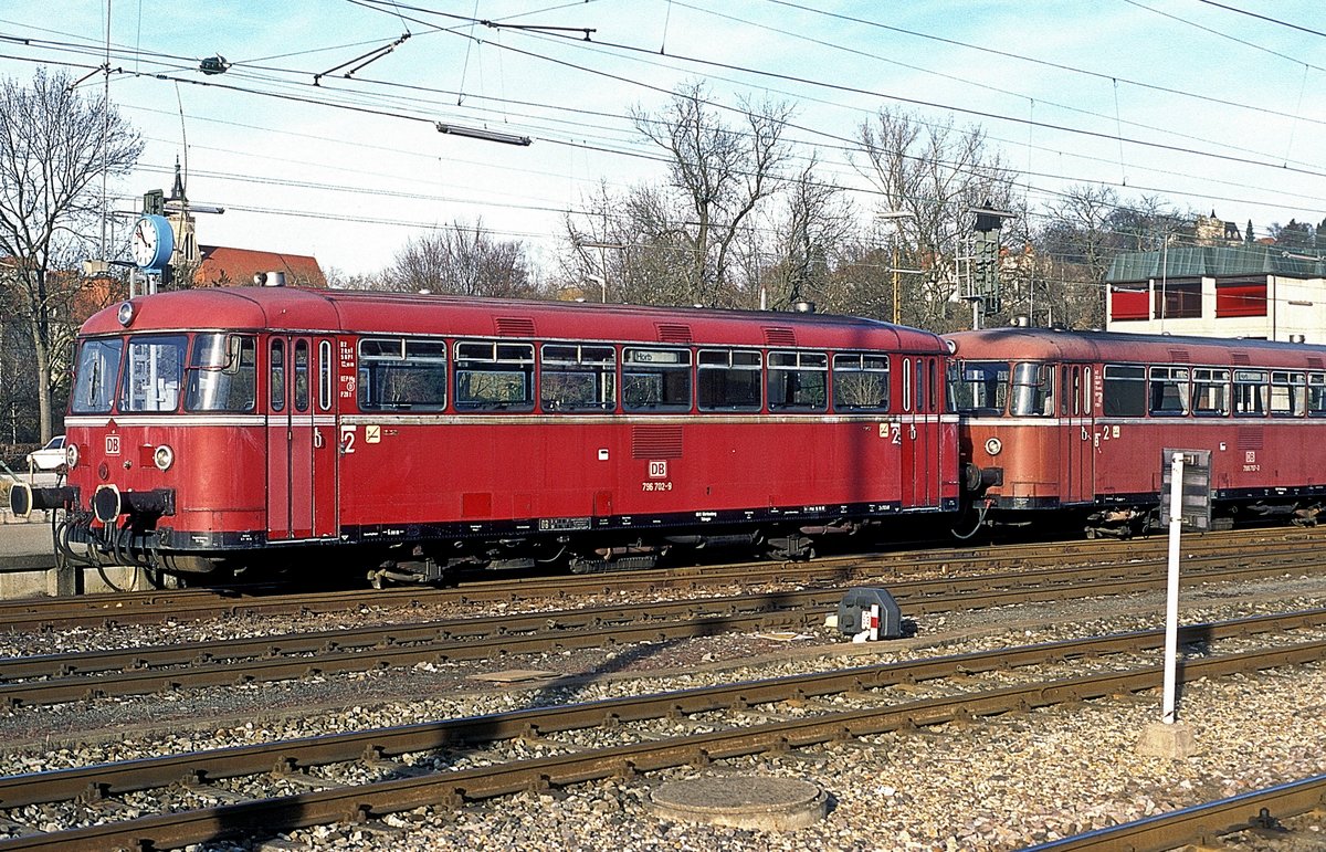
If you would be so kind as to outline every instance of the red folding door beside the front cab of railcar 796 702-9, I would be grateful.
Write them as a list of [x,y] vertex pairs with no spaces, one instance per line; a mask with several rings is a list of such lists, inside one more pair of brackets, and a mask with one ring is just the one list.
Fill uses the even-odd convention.
[[268,341],[267,514],[271,541],[337,533],[332,358],[329,340],[273,336]]

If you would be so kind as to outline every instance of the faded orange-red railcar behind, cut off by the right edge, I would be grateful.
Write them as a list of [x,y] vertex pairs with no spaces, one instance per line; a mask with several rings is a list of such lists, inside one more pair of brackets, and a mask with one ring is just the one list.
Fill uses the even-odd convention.
[[1326,495],[1326,348],[1001,328],[948,336],[967,487],[989,520],[1155,520],[1166,450],[1208,450],[1217,510],[1311,522]]

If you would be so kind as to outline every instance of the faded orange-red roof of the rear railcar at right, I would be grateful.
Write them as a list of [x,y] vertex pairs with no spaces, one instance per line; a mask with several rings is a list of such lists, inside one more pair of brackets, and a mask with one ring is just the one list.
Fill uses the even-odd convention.
[[[1128,332],[1067,332],[1046,328],[996,328],[945,334],[959,358],[1146,361],[1154,364],[1262,364],[1310,366],[1326,364],[1326,346],[1269,340],[1134,334]],[[1236,358],[1241,353],[1245,358]]]

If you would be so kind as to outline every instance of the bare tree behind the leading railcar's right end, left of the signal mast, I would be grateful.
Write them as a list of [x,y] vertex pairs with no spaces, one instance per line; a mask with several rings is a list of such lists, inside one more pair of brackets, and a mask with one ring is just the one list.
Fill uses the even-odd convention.
[[926,269],[904,300],[903,321],[944,329],[947,303],[959,284],[959,257],[971,234],[972,208],[1012,206],[1016,175],[989,150],[980,127],[926,123],[900,109],[882,109],[858,133],[858,171],[882,196],[880,212],[906,212],[896,224],[910,268]]

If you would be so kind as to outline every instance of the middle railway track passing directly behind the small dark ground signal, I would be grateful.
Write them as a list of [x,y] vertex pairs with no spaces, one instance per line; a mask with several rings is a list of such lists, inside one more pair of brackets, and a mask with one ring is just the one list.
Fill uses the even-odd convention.
[[[1280,553],[1266,564],[1217,568],[1208,557],[1188,565],[1185,583],[1254,580],[1284,572]],[[1326,568],[1296,565],[1298,571]],[[1130,595],[1163,588],[1147,561],[1095,568],[915,580],[891,587],[907,617],[1028,603]],[[0,658],[0,705],[60,703],[188,687],[272,682],[444,664],[511,658],[564,649],[625,646],[732,632],[802,630],[823,622],[842,588],[788,591],[680,601],[631,603],[570,610],[504,613],[408,625],[215,640],[160,648],[129,648],[40,657]]]

